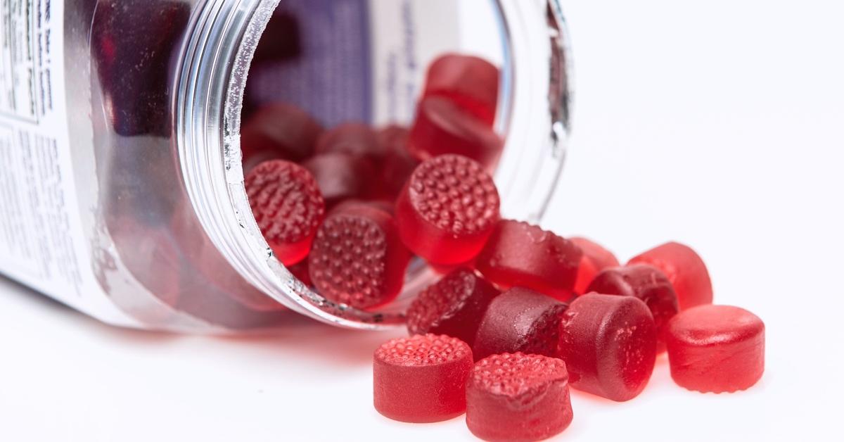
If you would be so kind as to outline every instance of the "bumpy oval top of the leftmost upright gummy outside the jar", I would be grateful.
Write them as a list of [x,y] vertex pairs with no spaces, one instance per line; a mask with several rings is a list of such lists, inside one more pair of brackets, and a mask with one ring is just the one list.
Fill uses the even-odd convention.
[[387,341],[375,351],[382,363],[403,367],[440,365],[472,357],[466,342],[444,335],[416,335]]

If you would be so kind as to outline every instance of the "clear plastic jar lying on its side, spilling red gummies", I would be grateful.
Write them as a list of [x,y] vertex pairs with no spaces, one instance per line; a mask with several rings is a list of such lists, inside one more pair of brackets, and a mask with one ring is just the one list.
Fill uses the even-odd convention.
[[3,34],[19,35],[20,50],[0,54],[9,60],[0,88],[30,100],[0,101],[0,203],[14,209],[0,214],[0,271],[115,325],[244,330],[279,325],[289,310],[358,329],[400,324],[432,280],[425,265],[411,265],[396,302],[358,311],[296,280],[252,217],[241,106],[277,8],[307,18],[303,38],[342,41],[345,57],[360,52],[366,96],[346,103],[353,113],[365,106],[370,123],[409,122],[425,63],[439,53],[497,63],[502,214],[541,219],[564,161],[571,99],[555,0],[280,3],[53,0],[14,10]]

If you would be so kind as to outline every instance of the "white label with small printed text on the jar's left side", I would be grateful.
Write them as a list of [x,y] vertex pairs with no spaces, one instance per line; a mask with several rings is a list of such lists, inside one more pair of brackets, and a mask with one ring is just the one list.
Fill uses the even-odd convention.
[[135,325],[91,271],[68,140],[62,1],[0,0],[0,273]]

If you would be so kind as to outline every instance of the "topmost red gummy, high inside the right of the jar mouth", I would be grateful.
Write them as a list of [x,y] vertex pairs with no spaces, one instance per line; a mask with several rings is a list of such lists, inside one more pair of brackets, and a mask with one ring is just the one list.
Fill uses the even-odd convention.
[[428,67],[425,97],[443,96],[490,128],[498,109],[500,73],[480,57],[446,54]]

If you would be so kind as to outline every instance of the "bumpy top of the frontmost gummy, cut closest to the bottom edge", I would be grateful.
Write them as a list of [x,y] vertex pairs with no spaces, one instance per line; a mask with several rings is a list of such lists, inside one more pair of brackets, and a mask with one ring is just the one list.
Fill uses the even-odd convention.
[[517,397],[568,379],[562,359],[517,352],[481,359],[475,363],[469,382],[494,395]]

